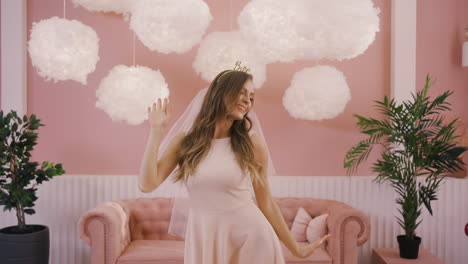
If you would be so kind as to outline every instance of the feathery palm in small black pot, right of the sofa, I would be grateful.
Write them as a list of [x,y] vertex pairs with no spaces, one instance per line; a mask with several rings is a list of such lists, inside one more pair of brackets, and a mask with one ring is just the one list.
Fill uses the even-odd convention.
[[[389,182],[398,194],[399,225],[404,235],[397,237],[400,257],[418,257],[421,238],[415,230],[422,220],[421,207],[424,205],[432,215],[431,201],[437,200],[437,190],[446,173],[453,173],[465,165],[460,155],[468,148],[457,146],[454,135],[458,118],[444,124],[443,112],[451,110],[446,99],[452,91],[446,91],[433,101],[427,95],[431,79],[426,77],[424,89],[412,94],[413,100],[397,104],[386,96],[384,101],[375,101],[384,119],[365,118],[354,114],[357,125],[368,138],[358,142],[349,150],[344,167],[350,175],[361,161],[367,159],[375,145],[384,150],[381,159],[373,164],[372,171],[378,176],[374,181]],[[417,181],[424,176],[424,181]]]

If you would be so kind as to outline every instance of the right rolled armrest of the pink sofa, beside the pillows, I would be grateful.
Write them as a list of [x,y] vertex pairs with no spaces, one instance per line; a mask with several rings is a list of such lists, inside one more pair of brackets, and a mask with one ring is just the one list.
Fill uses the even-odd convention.
[[369,217],[343,203],[329,208],[327,227],[332,235],[328,252],[334,264],[357,264],[357,246],[364,244],[370,236]]

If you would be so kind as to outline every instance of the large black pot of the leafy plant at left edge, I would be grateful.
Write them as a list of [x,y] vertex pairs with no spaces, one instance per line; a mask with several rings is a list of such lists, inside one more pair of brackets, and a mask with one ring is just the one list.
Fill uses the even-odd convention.
[[30,233],[15,232],[17,226],[0,229],[0,260],[2,264],[48,264],[49,228],[27,225]]

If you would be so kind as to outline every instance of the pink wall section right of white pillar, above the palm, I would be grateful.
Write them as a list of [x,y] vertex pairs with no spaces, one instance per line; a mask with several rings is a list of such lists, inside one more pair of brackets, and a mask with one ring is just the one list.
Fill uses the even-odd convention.
[[[447,90],[453,91],[448,98],[452,112],[447,116],[463,118],[458,132],[462,133],[468,125],[468,67],[461,67],[468,1],[418,1],[417,17],[417,89],[424,87],[426,74],[429,74],[435,79],[429,89],[431,98]],[[463,160],[468,163],[467,153]]]

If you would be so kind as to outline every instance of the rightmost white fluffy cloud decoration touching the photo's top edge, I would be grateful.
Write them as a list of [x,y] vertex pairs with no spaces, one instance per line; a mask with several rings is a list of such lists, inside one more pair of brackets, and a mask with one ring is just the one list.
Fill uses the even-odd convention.
[[374,42],[380,9],[371,0],[301,1],[309,14],[308,24],[298,26],[306,39],[303,59],[351,59]]

